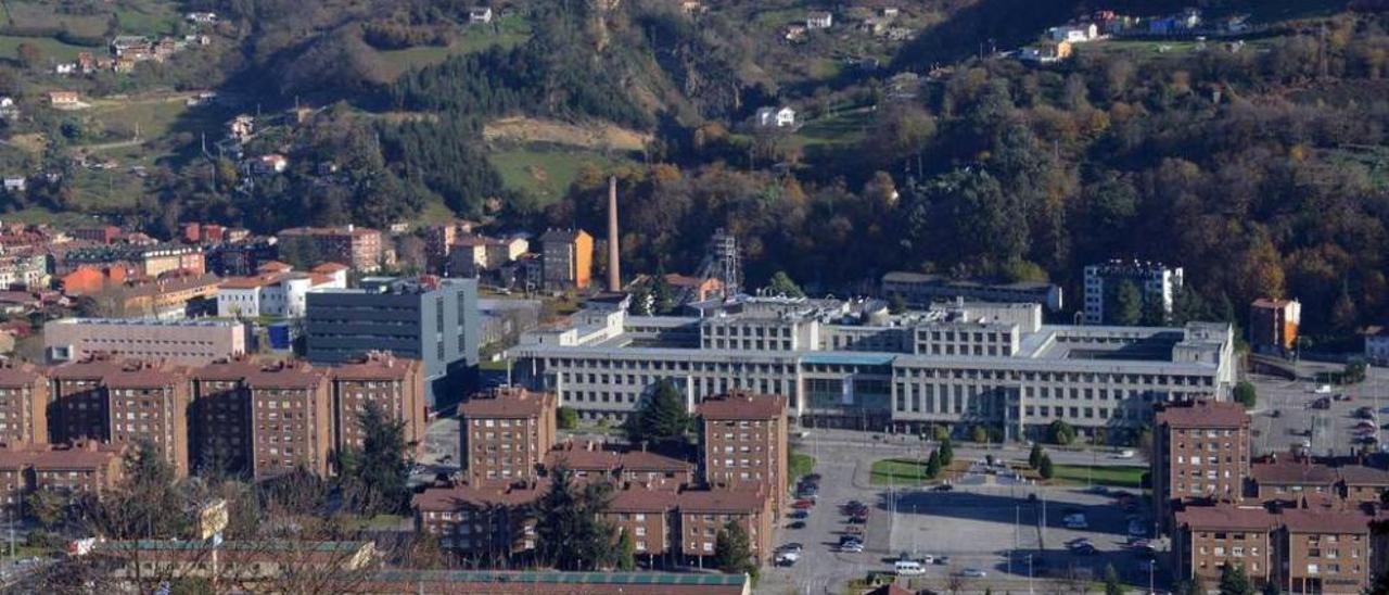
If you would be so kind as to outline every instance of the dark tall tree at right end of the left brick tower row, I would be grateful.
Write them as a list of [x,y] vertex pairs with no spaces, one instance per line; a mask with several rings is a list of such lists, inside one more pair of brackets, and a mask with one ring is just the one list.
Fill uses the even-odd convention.
[[392,420],[375,402],[357,416],[363,446],[356,468],[344,470],[344,498],[363,514],[394,514],[410,505],[410,459],[406,424]]

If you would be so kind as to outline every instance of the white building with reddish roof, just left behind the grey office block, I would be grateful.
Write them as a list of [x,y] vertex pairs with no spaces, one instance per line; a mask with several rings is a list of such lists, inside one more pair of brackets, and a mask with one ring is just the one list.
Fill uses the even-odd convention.
[[217,288],[217,316],[256,318],[300,318],[310,289],[346,289],[346,270],[340,274],[261,272],[231,277]]

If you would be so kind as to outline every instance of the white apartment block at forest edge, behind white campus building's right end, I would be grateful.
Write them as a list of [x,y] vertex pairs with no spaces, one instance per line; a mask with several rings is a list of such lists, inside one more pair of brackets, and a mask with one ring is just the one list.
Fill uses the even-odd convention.
[[[1125,285],[1138,289],[1146,318],[1172,316],[1172,300],[1182,289],[1182,267],[1138,260],[1111,260],[1085,267],[1085,324],[1115,324],[1118,293]],[[1147,320],[1147,323],[1161,323]]]

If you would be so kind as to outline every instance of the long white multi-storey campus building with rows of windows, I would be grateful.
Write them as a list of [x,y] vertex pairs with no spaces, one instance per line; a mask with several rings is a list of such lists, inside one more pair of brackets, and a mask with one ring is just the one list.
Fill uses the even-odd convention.
[[1010,438],[1054,420],[1133,428],[1151,421],[1154,402],[1224,400],[1235,382],[1226,324],[1046,325],[1038,304],[963,302],[889,314],[878,300],[739,298],[700,311],[640,317],[590,303],[508,357],[521,384],[557,392],[585,418],[624,418],[671,380],[692,407],[742,388],[786,395],[803,424],[968,423]]

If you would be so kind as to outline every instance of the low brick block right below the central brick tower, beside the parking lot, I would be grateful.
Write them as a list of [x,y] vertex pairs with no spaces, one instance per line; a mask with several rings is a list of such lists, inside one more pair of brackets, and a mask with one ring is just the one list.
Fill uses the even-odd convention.
[[767,562],[772,555],[775,520],[772,499],[765,492],[747,489],[697,489],[681,492],[676,506],[681,517],[681,553],[686,557],[710,557],[718,532],[728,523],[747,531],[753,557]]

